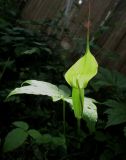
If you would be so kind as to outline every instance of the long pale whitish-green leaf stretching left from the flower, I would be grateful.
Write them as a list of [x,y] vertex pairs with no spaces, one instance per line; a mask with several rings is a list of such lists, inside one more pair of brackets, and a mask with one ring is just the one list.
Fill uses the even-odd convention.
[[10,92],[8,97],[15,94],[47,95],[52,97],[54,101],[58,101],[63,97],[65,97],[66,95],[68,95],[63,90],[59,89],[56,85],[53,85],[48,82],[27,80],[23,84],[25,83],[29,85],[14,89],[13,91]]

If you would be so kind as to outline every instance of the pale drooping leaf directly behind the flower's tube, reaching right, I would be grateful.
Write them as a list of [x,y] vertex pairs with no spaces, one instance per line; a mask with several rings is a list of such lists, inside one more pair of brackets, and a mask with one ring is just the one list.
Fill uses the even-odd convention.
[[[66,102],[68,102],[73,109],[73,102],[71,98],[65,98]],[[86,121],[87,126],[90,130],[90,132],[95,131],[95,124],[97,122],[97,108],[94,104],[96,101],[92,98],[84,97],[84,107],[83,107],[83,119]]]

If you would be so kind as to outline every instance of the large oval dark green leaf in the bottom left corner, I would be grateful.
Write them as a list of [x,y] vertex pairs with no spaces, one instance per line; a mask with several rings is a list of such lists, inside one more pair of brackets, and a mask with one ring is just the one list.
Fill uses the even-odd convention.
[[20,147],[28,137],[28,133],[20,128],[13,129],[5,138],[3,151],[9,152]]

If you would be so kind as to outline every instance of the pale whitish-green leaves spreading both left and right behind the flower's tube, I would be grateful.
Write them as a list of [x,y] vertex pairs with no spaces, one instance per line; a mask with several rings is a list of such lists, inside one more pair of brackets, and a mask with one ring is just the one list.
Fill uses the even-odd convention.
[[[72,101],[72,99],[69,97],[70,96],[69,89],[66,86],[62,86],[62,87],[60,86],[60,88],[62,89],[65,88],[65,90],[62,90],[58,88],[56,85],[53,85],[51,83],[44,82],[44,81],[28,80],[28,81],[25,81],[23,84],[25,83],[28,83],[29,85],[14,89],[13,91],[10,92],[7,98],[16,94],[47,95],[51,97],[53,101],[58,101],[62,99],[70,103],[73,106],[72,108],[75,112],[75,108],[73,104],[74,101]],[[75,97],[75,99],[76,98],[77,97]],[[93,132],[95,131],[95,124],[97,121],[97,109],[94,104],[95,100],[85,97],[85,100],[83,102],[84,102],[83,103],[84,107],[82,111],[82,117],[87,122],[87,126],[89,127],[90,131]],[[77,112],[78,112],[78,108],[77,108]]]

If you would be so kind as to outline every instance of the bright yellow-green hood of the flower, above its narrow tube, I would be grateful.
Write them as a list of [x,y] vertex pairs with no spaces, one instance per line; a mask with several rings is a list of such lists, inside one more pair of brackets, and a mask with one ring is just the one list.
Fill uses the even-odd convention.
[[[97,74],[98,64],[90,49],[66,72],[65,79],[71,87],[86,88],[88,82]],[[78,83],[78,84],[77,84]]]

